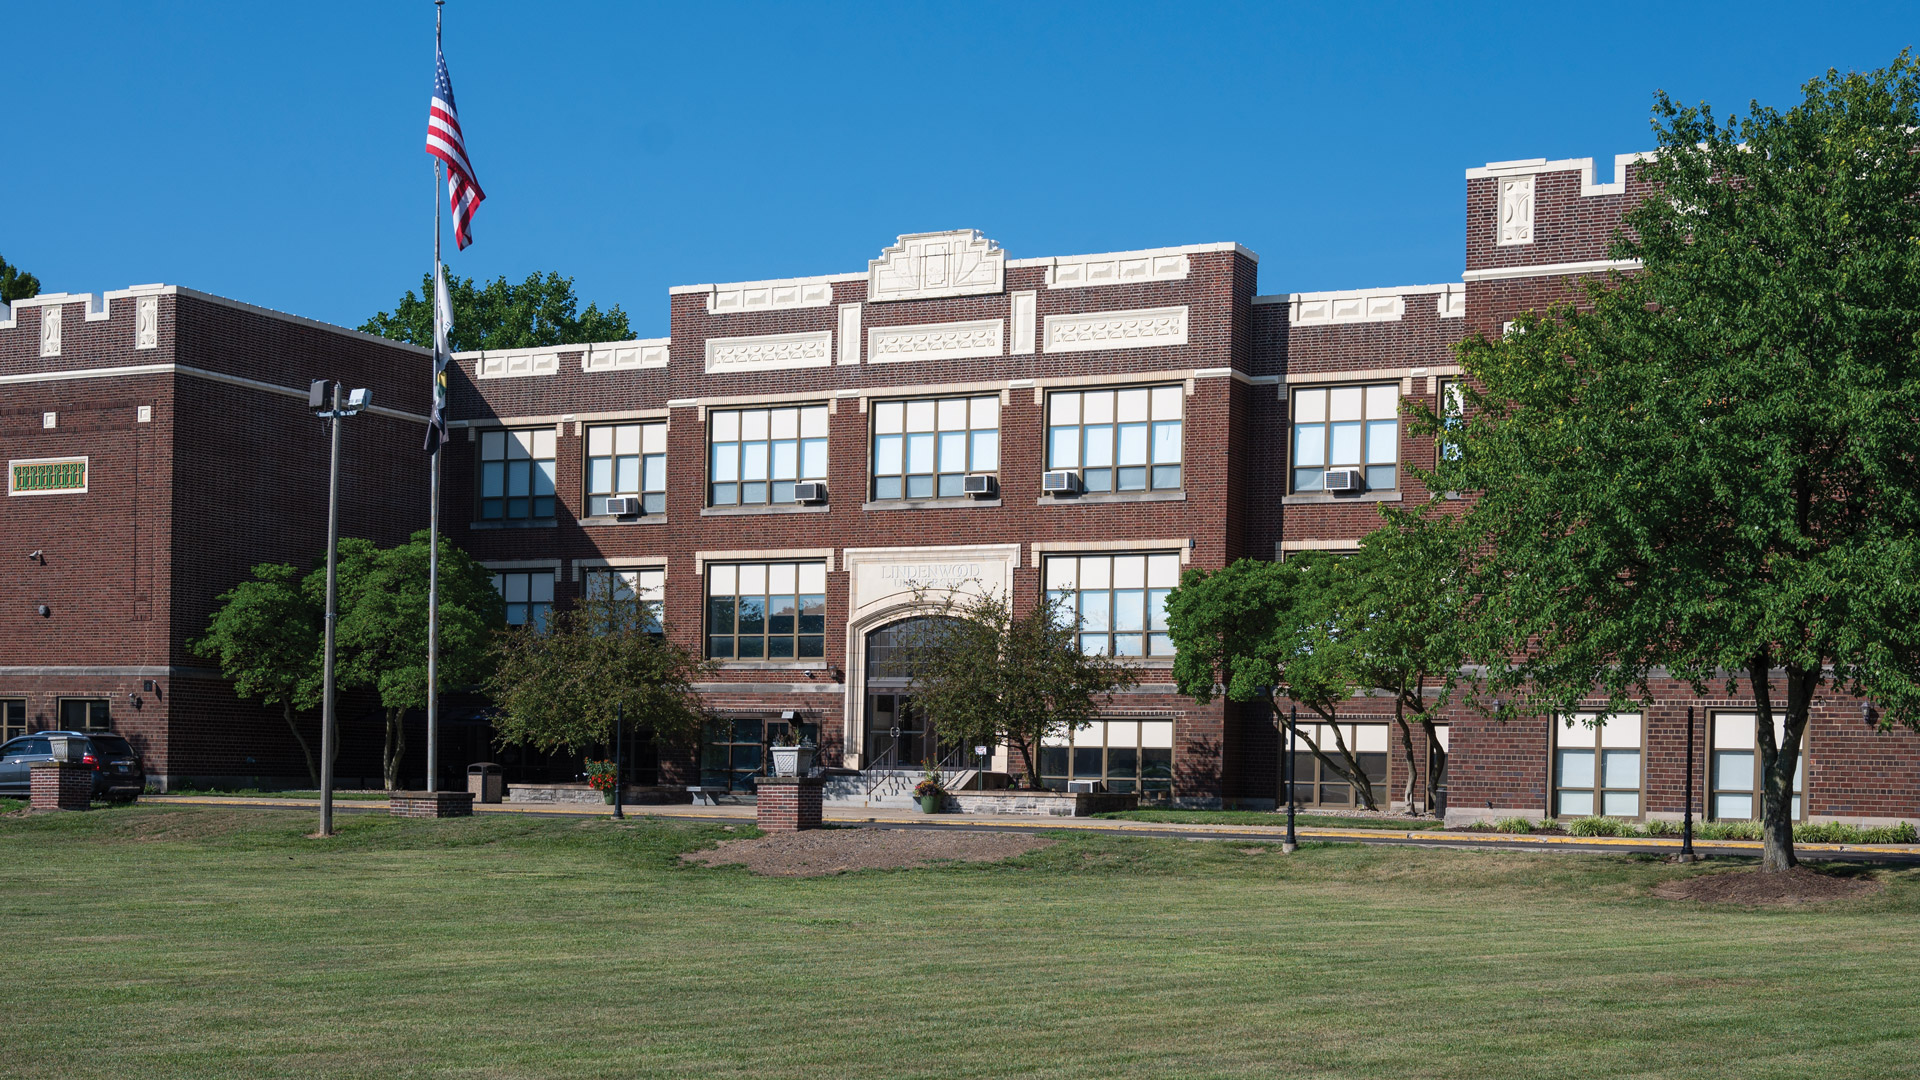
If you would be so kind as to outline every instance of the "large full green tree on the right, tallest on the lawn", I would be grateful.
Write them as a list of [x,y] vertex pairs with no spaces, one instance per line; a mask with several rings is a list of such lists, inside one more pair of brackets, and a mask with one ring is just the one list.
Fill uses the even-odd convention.
[[1916,129],[1908,54],[1726,123],[1661,94],[1655,194],[1613,244],[1644,269],[1592,311],[1463,342],[1478,386],[1430,480],[1478,492],[1463,552],[1494,686],[1565,713],[1649,700],[1663,669],[1695,694],[1745,676],[1768,871],[1795,863],[1822,684],[1920,726]]

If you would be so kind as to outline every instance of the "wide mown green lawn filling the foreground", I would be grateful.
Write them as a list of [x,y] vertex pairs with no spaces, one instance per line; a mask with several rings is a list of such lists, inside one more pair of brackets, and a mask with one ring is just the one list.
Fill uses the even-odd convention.
[[1908,869],[1745,911],[1580,853],[1064,834],[756,878],[676,863],[751,832],[720,824],[340,824],[0,819],[0,1076],[1755,1080],[1920,1051]]

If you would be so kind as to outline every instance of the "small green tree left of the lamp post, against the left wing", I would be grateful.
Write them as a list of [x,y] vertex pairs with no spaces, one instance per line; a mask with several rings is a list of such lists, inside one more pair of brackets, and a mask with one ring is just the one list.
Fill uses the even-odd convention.
[[240,698],[280,707],[307,759],[307,778],[319,788],[313,748],[294,713],[321,700],[324,607],[301,590],[300,571],[286,563],[253,567],[253,577],[223,592],[217,603],[205,636],[192,642],[194,653],[219,661]]

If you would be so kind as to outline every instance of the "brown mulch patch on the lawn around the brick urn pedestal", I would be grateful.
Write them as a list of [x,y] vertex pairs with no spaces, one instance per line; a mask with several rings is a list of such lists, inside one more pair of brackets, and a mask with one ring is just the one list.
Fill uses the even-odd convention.
[[929,863],[998,863],[1050,846],[1025,832],[918,828],[810,828],[728,840],[710,851],[682,855],[705,867],[747,867],[756,874],[816,878],[849,871],[897,871]]

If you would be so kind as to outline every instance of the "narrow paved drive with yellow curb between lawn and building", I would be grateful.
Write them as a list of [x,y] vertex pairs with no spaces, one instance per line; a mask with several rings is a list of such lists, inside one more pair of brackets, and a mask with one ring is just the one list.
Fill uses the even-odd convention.
[[[221,805],[267,809],[319,809],[319,799],[275,799],[248,796],[144,796],[142,801],[163,805]],[[691,805],[634,805],[628,817],[659,817],[666,821],[741,821],[755,819],[751,805],[691,807]],[[334,813],[386,811],[382,799],[334,799]],[[611,817],[611,805],[595,803],[476,803],[476,815],[536,815],[536,817]],[[1252,840],[1279,844],[1284,828],[1265,824],[1169,824],[1156,821],[1110,821],[1096,817],[1029,817],[1029,815],[924,815],[906,809],[833,807],[826,809],[828,824],[866,828],[970,828],[983,832],[1039,832],[1069,828],[1100,834],[1171,836],[1179,840]],[[1672,855],[1680,840],[1668,836],[1530,836],[1517,832],[1446,832],[1396,828],[1321,828],[1308,824],[1313,815],[1302,815],[1296,832],[1302,842],[1331,840],[1340,844],[1398,844],[1411,847],[1475,847],[1517,851],[1611,851]],[[1759,840],[1695,840],[1693,847],[1707,855],[1759,855]],[[1899,861],[1920,863],[1920,844],[1795,844],[1803,857],[1832,861]]]

